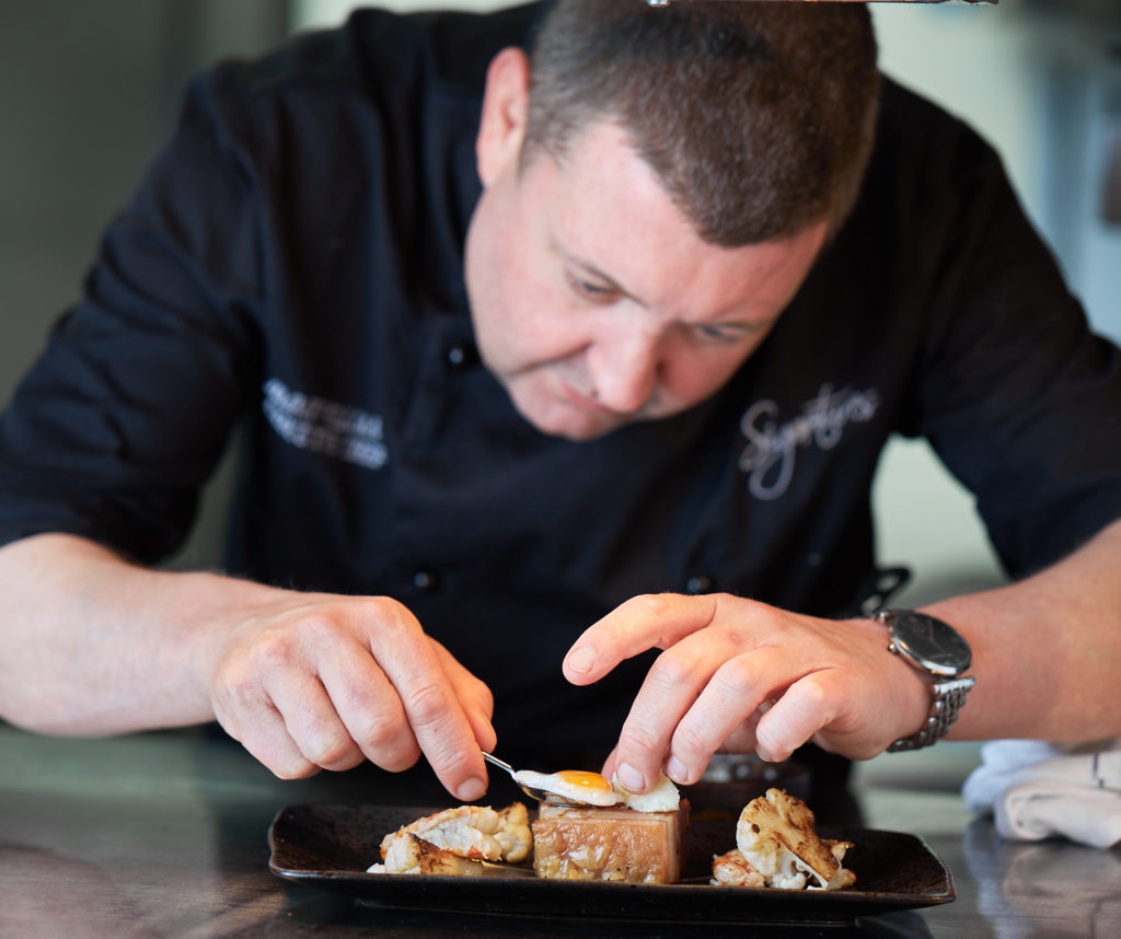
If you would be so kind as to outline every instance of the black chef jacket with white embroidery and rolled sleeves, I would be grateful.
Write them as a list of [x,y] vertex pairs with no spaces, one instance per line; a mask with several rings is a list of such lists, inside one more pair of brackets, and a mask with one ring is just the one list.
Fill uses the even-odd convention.
[[591,443],[521,419],[462,260],[485,66],[538,12],[360,12],[194,83],[3,418],[0,539],[157,563],[240,427],[229,569],[399,598],[490,685],[503,750],[547,757],[613,743],[645,660],[590,689],[560,660],[636,593],[853,610],[893,431],[1012,575],[1121,517],[1118,350],[993,152],[890,83],[854,216],[720,393]]

